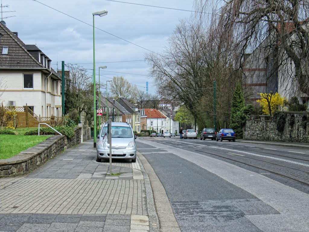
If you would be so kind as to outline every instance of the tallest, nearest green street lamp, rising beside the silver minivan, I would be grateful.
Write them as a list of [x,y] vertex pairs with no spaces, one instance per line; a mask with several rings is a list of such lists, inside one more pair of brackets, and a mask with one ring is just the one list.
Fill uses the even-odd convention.
[[107,11],[97,11],[92,13],[93,23],[93,147],[96,147],[96,110],[95,110],[95,15],[100,17],[107,15]]

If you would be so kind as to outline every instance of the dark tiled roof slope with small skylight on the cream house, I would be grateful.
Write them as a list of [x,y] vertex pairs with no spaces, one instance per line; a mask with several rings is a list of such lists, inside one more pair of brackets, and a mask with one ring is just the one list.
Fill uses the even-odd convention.
[[45,68],[24,47],[25,44],[6,26],[0,23],[0,52],[8,46],[8,55],[0,54],[1,68]]

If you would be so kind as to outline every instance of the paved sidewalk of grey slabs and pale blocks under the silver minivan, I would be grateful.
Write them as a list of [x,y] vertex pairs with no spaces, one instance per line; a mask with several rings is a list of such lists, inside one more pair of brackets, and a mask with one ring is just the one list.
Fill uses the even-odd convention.
[[95,161],[92,142],[0,179],[0,231],[151,231],[140,164]]

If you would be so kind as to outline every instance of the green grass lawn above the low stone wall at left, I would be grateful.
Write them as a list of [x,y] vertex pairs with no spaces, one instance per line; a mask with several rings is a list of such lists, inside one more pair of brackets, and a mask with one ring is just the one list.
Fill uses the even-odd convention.
[[[20,128],[29,129],[29,128]],[[33,130],[33,128],[31,128]],[[17,131],[14,130],[17,134]],[[22,132],[23,131],[23,132]],[[52,135],[21,135],[27,130],[19,131],[20,135],[0,135],[0,159],[7,159],[19,152],[43,142]]]

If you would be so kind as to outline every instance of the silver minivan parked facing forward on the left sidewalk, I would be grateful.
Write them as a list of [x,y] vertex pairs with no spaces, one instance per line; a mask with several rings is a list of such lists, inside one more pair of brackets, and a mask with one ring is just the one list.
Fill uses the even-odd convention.
[[[112,122],[112,159],[130,159],[136,162],[136,136],[130,124],[125,122]],[[98,135],[97,161],[109,159],[109,144],[107,143],[107,123]]]

